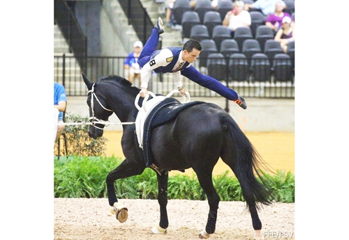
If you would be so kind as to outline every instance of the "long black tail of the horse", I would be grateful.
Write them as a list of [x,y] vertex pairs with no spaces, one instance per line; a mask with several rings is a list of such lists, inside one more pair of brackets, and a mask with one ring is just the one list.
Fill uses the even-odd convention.
[[[235,120],[223,119],[225,119],[223,126],[226,126],[223,129],[227,129],[231,137],[228,138],[228,145],[230,147],[233,145],[235,148],[233,152],[235,152],[234,155],[236,155],[237,159],[236,163],[233,164],[235,168],[232,170],[239,180],[246,203],[255,205],[255,202],[259,202],[263,205],[270,205],[273,200],[272,187],[267,179],[263,177],[265,172],[262,170],[262,168],[269,170],[267,163],[255,150],[255,147],[239,128]],[[259,208],[258,205],[255,207]]]

